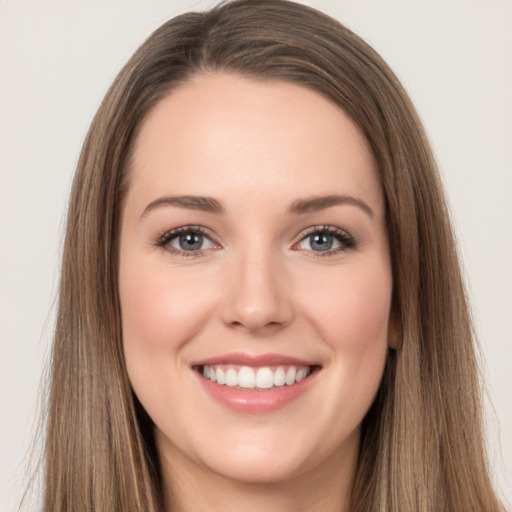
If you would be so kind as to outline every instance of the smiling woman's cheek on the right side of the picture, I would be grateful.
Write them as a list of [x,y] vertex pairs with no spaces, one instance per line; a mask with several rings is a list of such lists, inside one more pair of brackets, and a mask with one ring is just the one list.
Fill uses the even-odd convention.
[[310,318],[333,356],[332,389],[346,390],[346,403],[364,414],[386,361],[392,278],[384,266],[345,270],[316,283]]

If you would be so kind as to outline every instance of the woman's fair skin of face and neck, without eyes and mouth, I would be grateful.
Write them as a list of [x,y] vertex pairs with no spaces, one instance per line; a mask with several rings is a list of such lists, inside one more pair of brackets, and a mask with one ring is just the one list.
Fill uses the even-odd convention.
[[[205,74],[150,112],[130,173],[124,351],[155,424],[169,510],[348,510],[361,421],[392,345],[384,199],[364,137],[307,88]],[[289,211],[332,194],[368,208]],[[180,195],[214,198],[224,211],[148,209]],[[158,245],[190,225],[208,230],[201,251],[176,253],[177,238]],[[325,225],[354,245],[313,250],[308,228]],[[230,352],[278,353],[321,370],[285,407],[243,414],[212,400],[191,368]]]

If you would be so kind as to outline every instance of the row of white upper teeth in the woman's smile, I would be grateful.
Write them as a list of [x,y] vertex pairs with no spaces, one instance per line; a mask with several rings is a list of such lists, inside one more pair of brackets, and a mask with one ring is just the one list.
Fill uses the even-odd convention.
[[204,365],[203,377],[217,384],[229,387],[239,386],[246,389],[270,389],[285,384],[291,386],[304,380],[311,373],[308,366],[278,366],[270,368],[251,368],[242,366],[230,368],[227,365]]

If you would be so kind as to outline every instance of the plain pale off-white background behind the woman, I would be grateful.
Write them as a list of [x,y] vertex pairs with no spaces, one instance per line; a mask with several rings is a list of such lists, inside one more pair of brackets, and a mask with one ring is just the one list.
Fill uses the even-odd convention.
[[[512,2],[307,3],[383,55],[431,137],[481,338],[493,471],[510,503]],[[212,4],[0,0],[2,512],[16,510],[27,482],[26,453],[44,396],[39,386],[53,325],[62,219],[88,125],[117,71],[153,29],[179,12]]]

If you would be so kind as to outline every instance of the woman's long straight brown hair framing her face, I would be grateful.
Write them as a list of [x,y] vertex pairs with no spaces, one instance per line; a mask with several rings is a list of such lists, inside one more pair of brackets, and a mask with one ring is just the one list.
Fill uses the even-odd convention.
[[498,511],[486,465],[474,335],[436,165],[403,87],[364,41],[284,0],[178,16],[120,72],[79,160],[67,218],[45,447],[46,512],[160,511],[151,421],[124,366],[118,230],[149,110],[204,72],[284,80],[360,127],[386,198],[399,344],[362,427],[352,511]]

